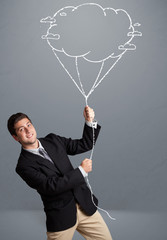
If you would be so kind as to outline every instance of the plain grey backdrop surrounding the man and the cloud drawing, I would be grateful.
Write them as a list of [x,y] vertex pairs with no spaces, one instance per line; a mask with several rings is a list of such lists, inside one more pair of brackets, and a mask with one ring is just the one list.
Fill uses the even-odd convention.
[[[72,138],[81,136],[84,99],[51,48],[41,39],[47,28],[40,19],[52,16],[64,6],[84,2],[93,1],[0,1],[0,226],[3,240],[9,239],[7,232],[13,239],[22,239],[21,233],[14,235],[11,226],[17,229],[25,222],[27,227],[27,222],[34,221],[39,230],[41,224],[44,225],[39,196],[15,174],[20,146],[7,132],[8,117],[19,111],[27,113],[40,137],[49,132]],[[90,183],[100,206],[113,210],[118,218],[117,222],[109,223],[113,224],[114,239],[139,239],[138,233],[147,232],[148,235],[140,235],[143,240],[158,236],[165,240],[167,1],[94,2],[127,10],[133,23],[141,23],[139,30],[143,36],[135,38],[136,51],[123,56],[89,99],[102,125]],[[71,161],[78,166],[84,157],[89,154],[71,157]],[[35,215],[38,221],[33,217],[35,212],[39,212]],[[31,213],[30,219],[25,219]],[[155,222],[146,227],[149,216]],[[130,232],[134,237],[128,231],[132,226]],[[122,231],[122,236],[118,231],[119,234]],[[38,235],[34,229],[32,233],[36,233],[34,239],[42,239],[41,232]]]

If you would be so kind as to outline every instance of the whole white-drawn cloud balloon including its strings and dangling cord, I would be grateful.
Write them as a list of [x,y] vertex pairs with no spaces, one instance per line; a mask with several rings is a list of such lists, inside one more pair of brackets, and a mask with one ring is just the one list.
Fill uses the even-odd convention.
[[[142,36],[137,30],[140,23],[132,24],[127,11],[111,7],[103,8],[96,3],[61,8],[53,16],[42,18],[40,22],[49,24],[47,33],[42,39],[47,41],[57,60],[83,95],[86,105],[90,95],[123,55],[136,49],[136,45],[132,43],[134,37]],[[63,63],[62,55],[73,61],[77,78]],[[87,92],[80,74],[79,64],[83,62],[94,63],[98,68],[97,77]],[[91,159],[93,150],[94,141]],[[91,190],[89,182],[87,183]]]

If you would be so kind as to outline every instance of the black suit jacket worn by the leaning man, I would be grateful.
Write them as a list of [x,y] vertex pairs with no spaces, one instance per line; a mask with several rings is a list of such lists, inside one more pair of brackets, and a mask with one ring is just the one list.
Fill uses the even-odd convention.
[[[99,131],[98,125],[95,140]],[[87,215],[96,211],[83,175],[78,168],[73,168],[68,158],[68,155],[92,148],[92,128],[85,124],[81,139],[72,140],[51,133],[39,140],[54,164],[22,149],[16,172],[40,194],[46,213],[47,231],[62,231],[76,223],[76,202]],[[93,197],[97,204],[96,197]]]

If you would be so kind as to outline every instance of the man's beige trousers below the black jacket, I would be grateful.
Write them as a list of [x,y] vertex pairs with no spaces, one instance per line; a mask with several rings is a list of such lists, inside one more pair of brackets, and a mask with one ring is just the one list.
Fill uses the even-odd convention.
[[98,210],[92,216],[87,216],[78,204],[76,224],[64,231],[47,232],[47,240],[72,240],[75,230],[86,240],[112,240],[110,231]]

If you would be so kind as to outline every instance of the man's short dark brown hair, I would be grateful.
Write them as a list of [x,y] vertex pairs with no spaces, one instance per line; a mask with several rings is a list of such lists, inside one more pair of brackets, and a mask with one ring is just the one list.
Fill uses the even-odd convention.
[[31,122],[30,118],[25,113],[20,112],[10,116],[7,122],[7,127],[11,135],[17,136],[14,126],[18,121],[22,120],[23,118],[28,118],[28,120]]

